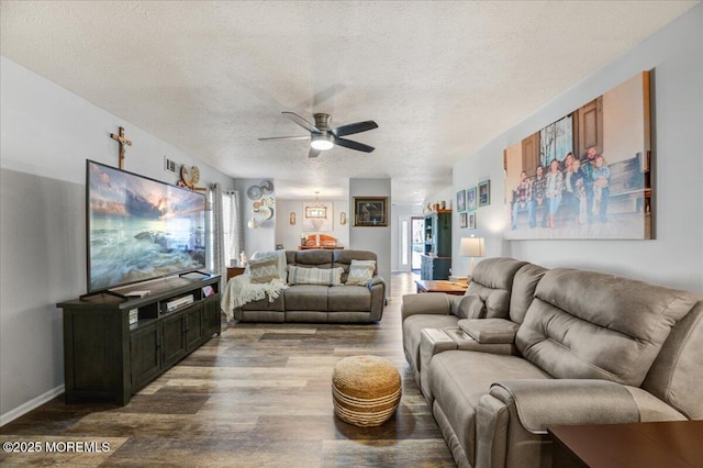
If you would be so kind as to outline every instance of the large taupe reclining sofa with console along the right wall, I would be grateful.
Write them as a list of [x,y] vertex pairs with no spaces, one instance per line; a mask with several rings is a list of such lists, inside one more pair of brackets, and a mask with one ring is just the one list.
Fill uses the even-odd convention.
[[549,467],[548,426],[703,419],[703,302],[687,291],[491,258],[464,297],[403,297],[402,320],[461,467]]

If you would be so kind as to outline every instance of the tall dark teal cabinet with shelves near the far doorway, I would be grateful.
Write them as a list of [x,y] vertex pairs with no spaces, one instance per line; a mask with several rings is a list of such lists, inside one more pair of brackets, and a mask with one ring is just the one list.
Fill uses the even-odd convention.
[[451,267],[451,211],[425,215],[425,253],[421,257],[420,278],[447,279]]

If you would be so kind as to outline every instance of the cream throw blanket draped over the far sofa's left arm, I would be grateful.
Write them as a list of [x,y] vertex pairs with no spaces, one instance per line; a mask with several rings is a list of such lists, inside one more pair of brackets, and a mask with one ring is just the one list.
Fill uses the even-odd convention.
[[288,288],[288,285],[286,285],[286,252],[256,252],[252,255],[252,260],[264,258],[276,258],[278,260],[279,278],[269,282],[252,282],[252,277],[248,272],[232,278],[227,282],[220,302],[227,321],[234,319],[234,309],[241,308],[248,302],[259,301],[266,297],[268,297],[269,302],[274,302],[280,297],[281,291]]

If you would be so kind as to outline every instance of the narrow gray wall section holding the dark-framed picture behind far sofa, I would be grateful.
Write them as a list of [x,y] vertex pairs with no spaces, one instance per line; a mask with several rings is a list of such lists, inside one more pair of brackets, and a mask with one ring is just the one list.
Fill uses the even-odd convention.
[[377,255],[378,274],[386,280],[387,296],[391,288],[391,218],[388,207],[388,226],[354,226],[354,197],[388,197],[391,200],[391,179],[349,179],[349,248],[371,250]]

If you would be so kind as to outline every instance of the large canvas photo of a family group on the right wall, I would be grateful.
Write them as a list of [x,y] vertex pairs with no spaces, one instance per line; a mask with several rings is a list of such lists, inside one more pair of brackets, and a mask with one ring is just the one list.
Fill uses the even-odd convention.
[[507,239],[649,239],[649,73],[505,149]]

